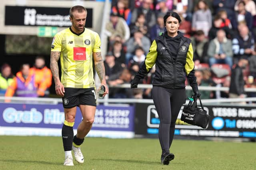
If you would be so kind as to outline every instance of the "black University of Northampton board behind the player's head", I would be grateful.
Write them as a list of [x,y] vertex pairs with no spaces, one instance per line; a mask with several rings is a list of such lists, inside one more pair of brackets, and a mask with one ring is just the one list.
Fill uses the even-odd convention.
[[[5,25],[70,27],[70,8],[5,6]],[[92,28],[92,8],[86,8],[86,27]]]

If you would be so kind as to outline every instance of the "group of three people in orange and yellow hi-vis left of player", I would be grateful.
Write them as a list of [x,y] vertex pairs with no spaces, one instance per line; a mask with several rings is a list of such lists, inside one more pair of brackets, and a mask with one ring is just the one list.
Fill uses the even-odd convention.
[[9,64],[5,63],[1,67],[0,96],[46,97],[49,96],[51,85],[52,73],[45,66],[43,57],[36,57],[33,67],[22,64],[16,76],[12,74]]

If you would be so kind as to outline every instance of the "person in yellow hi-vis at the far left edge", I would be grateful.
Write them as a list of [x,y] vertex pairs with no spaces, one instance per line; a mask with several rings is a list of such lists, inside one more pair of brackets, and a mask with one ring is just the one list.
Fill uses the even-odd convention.
[[12,69],[9,64],[3,64],[0,74],[0,96],[4,96],[6,89],[13,82],[14,76],[12,75]]

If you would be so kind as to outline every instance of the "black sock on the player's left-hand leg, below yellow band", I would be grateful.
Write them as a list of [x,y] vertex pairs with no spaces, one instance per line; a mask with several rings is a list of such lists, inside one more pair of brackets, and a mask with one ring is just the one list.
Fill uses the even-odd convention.
[[64,125],[62,126],[62,142],[64,151],[72,150],[74,131],[73,127]]

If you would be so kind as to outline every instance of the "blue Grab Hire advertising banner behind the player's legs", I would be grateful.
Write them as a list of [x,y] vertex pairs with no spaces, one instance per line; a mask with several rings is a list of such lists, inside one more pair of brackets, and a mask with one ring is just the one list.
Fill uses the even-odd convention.
[[[0,103],[0,113],[1,127],[56,128],[61,131],[64,122],[62,104]],[[77,129],[81,121],[82,113],[77,107],[74,129]],[[134,133],[134,107],[97,106],[92,130]]]

